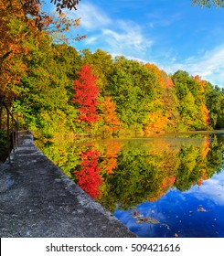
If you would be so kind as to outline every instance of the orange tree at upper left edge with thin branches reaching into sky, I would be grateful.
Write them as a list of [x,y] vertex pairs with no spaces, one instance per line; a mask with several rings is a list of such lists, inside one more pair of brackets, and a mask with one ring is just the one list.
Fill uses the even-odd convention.
[[29,53],[30,43],[38,46],[46,35],[67,42],[63,33],[77,26],[79,19],[42,12],[38,0],[0,0],[0,93],[11,98],[19,94],[17,85],[26,73],[24,56]]

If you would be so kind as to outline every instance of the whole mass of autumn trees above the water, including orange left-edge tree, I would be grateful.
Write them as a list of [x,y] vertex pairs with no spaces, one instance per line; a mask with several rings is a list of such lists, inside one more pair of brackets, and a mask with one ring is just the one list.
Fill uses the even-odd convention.
[[153,63],[112,59],[101,49],[77,51],[67,36],[79,20],[47,16],[39,1],[20,2],[0,0],[0,94],[22,128],[50,139],[224,127],[219,86],[184,70],[166,74]]

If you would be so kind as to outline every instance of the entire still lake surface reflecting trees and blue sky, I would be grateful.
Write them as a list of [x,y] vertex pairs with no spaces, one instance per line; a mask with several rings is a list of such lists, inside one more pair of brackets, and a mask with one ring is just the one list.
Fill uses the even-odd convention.
[[224,134],[48,144],[42,149],[138,237],[224,237]]

